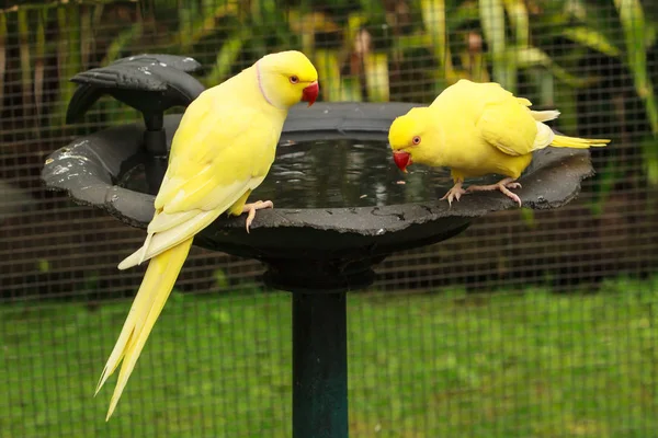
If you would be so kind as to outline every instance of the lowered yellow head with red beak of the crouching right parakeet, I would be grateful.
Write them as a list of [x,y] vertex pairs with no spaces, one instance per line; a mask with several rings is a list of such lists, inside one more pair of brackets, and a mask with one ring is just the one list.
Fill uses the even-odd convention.
[[393,148],[393,160],[402,172],[413,162],[432,165],[435,161],[432,145],[432,114],[428,107],[411,108],[393,120],[388,129],[388,142]]

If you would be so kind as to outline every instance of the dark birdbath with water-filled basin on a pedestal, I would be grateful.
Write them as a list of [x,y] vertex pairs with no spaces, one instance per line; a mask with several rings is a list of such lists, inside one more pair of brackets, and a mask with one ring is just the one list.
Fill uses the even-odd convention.
[[[162,99],[171,88],[149,81],[149,89],[140,82],[144,59],[159,64],[158,57],[145,55],[139,62],[120,64],[123,78],[131,78],[127,82],[145,94],[137,103],[124,102],[143,111],[146,120],[152,116],[139,105],[149,101],[148,111],[161,119],[155,129],[163,132],[159,143],[145,134],[154,130],[148,122],[112,127],[53,152],[42,173],[47,188],[65,191],[79,204],[143,229],[152,218],[154,195],[167,166],[162,151],[170,148],[181,119],[180,115],[161,116],[163,106],[181,104]],[[170,71],[172,77],[188,74],[180,69],[184,64],[171,60],[163,68],[179,69]],[[78,76],[87,78],[79,81],[81,89],[95,90],[94,100],[104,93],[116,95],[114,89],[125,87],[125,80],[106,82],[100,90],[94,78],[104,69],[97,69],[95,76]],[[162,76],[159,80],[166,82]],[[192,87],[182,104],[189,104],[195,92]],[[77,116],[91,105],[87,101],[81,110],[76,102],[80,100],[71,100],[69,113]],[[272,170],[252,194],[252,199],[272,199],[275,208],[260,210],[249,234],[245,216],[222,217],[194,239],[195,245],[205,249],[261,261],[266,266],[264,283],[292,292],[294,438],[349,435],[347,292],[372,285],[373,266],[386,256],[450,239],[475,218],[515,208],[498,192],[464,196],[449,207],[439,200],[452,185],[447,171],[416,166],[402,175],[392,160],[387,132],[393,119],[412,106],[417,105],[294,107]],[[591,174],[587,151],[544,149],[535,153],[519,180],[523,188],[517,193],[525,207],[557,208],[576,197],[582,178]],[[497,180],[473,182],[488,181]]]

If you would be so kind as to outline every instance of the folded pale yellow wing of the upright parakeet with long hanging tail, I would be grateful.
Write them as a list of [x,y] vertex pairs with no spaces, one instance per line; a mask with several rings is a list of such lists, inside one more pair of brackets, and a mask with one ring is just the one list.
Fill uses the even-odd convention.
[[264,180],[282,123],[273,123],[258,106],[236,107],[230,102],[215,96],[185,112],[148,237],[120,264],[121,269],[193,237]]

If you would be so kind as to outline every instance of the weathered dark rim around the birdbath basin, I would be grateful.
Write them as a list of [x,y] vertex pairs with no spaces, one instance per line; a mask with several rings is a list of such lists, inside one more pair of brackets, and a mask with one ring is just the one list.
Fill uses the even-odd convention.
[[[411,107],[421,105],[390,102],[316,103],[310,108],[305,106],[297,105],[291,110],[281,135],[281,142],[319,139],[381,140],[386,142],[388,127],[393,119],[405,114]],[[180,115],[166,116],[168,147],[179,122]],[[114,139],[116,137],[126,138],[133,132],[140,134],[144,129],[143,126],[140,123],[135,123],[111,127],[76,139],[69,147],[53,152],[46,160],[42,173],[46,187],[49,189],[64,189],[80,204],[100,207],[133,227],[146,228],[152,218],[155,197],[127,191],[113,184],[112,178],[116,176],[121,165],[114,165],[114,169],[112,169],[112,165],[107,165],[106,160],[99,157],[99,151],[93,150],[94,146],[92,145],[99,136],[103,135]],[[139,135],[134,137],[133,142],[141,139]],[[114,155],[122,152],[122,149],[116,148],[116,145],[103,146],[113,147],[115,149]],[[91,150],[84,151],[86,147]],[[79,153],[71,153],[72,149]],[[114,161],[117,158],[127,159],[125,152],[132,153],[137,149],[137,145],[123,148],[124,157],[113,157]],[[97,170],[97,172],[90,173],[87,169],[80,177],[90,181],[82,182],[78,186],[71,184],[71,180],[68,177],[70,173],[61,177],[61,174],[53,171],[60,160],[76,155],[84,157],[84,164],[92,164],[92,168]],[[95,163],[90,163],[93,161]],[[520,178],[524,187],[519,192],[523,200],[523,207],[532,209],[551,209],[567,204],[577,196],[580,191],[580,182],[593,173],[589,152],[585,150],[546,149],[535,153],[533,164],[534,166],[531,165],[526,174]],[[561,189],[552,186],[556,185],[555,180],[535,178],[533,181],[533,175],[536,172],[546,173],[547,177],[555,171],[560,172],[558,183]],[[536,184],[536,180],[540,180],[542,184]],[[88,187],[93,183],[100,184],[103,189],[90,191]],[[378,235],[438,219],[477,218],[492,211],[515,207],[511,199],[501,196],[499,193],[478,193],[464,196],[460,201],[453,203],[452,207],[445,200],[438,198],[423,203],[340,208],[276,208],[276,199],[273,199],[273,201],[275,204],[274,209],[258,212],[251,227],[253,231],[268,228],[304,227],[325,231]],[[144,205],[141,208],[135,208],[136,204]],[[340,220],[341,218],[347,219]],[[367,218],[367,220],[363,218]],[[215,229],[226,228],[227,230],[238,227],[243,228],[243,218],[220,218],[212,227]]]

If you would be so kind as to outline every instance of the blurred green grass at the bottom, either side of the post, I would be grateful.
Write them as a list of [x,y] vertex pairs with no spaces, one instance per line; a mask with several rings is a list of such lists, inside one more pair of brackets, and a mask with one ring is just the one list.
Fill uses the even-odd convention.
[[[658,278],[349,300],[351,437],[649,437]],[[0,307],[0,437],[290,437],[285,293],[174,295],[110,423],[129,302]]]

